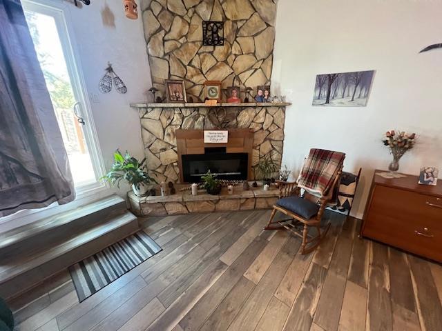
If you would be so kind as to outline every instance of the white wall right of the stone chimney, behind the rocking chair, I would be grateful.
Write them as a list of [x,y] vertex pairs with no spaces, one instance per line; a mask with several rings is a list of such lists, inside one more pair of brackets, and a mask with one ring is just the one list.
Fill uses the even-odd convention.
[[[362,217],[374,169],[392,159],[381,143],[389,129],[416,132],[419,143],[400,171],[442,170],[441,1],[280,0],[273,90],[287,109],[283,163],[296,172],[310,148],[347,153],[345,170],[363,168],[352,214]],[[312,107],[316,74],[376,70],[363,108]],[[439,185],[442,185],[439,184]]]

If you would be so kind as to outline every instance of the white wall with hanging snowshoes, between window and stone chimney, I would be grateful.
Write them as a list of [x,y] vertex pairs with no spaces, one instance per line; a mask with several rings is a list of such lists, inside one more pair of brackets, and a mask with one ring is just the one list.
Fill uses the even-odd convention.
[[[115,17],[115,28],[102,22],[102,10],[108,6]],[[151,87],[146,41],[144,41],[141,17],[137,20],[124,16],[123,3],[118,0],[90,1],[90,6],[78,9],[67,5],[75,24],[75,43],[80,55],[81,69],[89,94],[98,94],[99,103],[90,100],[99,147],[106,168],[112,163],[113,152],[119,148],[128,150],[135,157],[144,157],[137,110],[129,103],[146,99]],[[124,81],[128,92],[119,94],[115,88],[107,94],[98,90],[107,63]],[[119,190],[120,193],[126,192]]]

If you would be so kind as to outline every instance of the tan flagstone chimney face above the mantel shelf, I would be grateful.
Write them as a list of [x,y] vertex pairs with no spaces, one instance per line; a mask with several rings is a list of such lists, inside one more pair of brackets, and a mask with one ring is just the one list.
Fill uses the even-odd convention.
[[[222,88],[270,85],[277,0],[142,0],[140,10],[152,83],[182,79],[189,99],[203,101],[203,83]],[[204,46],[203,21],[223,24],[222,46]]]

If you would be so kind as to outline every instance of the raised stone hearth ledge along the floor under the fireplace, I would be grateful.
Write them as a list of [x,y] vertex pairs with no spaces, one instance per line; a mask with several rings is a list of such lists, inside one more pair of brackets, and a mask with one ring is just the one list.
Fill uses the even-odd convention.
[[270,209],[278,199],[279,190],[262,187],[242,190],[236,186],[233,194],[228,194],[227,188],[222,188],[219,195],[207,194],[199,190],[193,196],[190,191],[162,196],[137,197],[128,192],[131,210],[140,217],[161,216],[173,214],[193,214],[198,212],[218,212],[235,210]]

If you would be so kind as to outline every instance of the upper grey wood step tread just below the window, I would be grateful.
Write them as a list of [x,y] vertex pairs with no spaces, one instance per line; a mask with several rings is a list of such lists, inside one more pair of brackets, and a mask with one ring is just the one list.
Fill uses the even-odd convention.
[[40,221],[26,224],[19,228],[4,232],[0,235],[0,250],[27,238],[35,237],[37,234],[42,232],[58,228],[62,225],[70,223],[71,221],[75,221],[76,219],[86,217],[88,214],[93,214],[94,212],[98,212],[99,210],[103,210],[111,207],[112,205],[117,205],[123,202],[125,201],[122,199],[122,197],[119,197],[117,194],[112,194],[109,197],[93,201],[88,203],[88,205],[75,208],[74,210],[61,212],[46,219],[41,219]]

